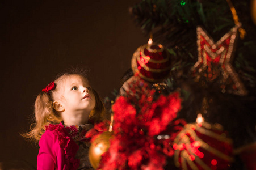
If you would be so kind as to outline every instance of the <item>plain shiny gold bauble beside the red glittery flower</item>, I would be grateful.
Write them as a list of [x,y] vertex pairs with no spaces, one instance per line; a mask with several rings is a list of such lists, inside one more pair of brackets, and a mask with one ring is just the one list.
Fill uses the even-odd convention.
[[110,148],[110,138],[112,137],[112,133],[109,131],[103,132],[96,138],[89,148],[89,160],[94,169],[99,167],[100,159],[102,158],[102,154],[108,151]]

